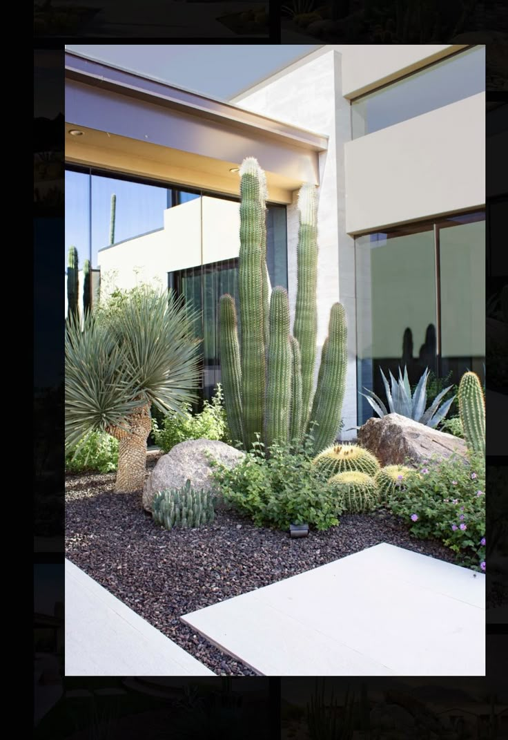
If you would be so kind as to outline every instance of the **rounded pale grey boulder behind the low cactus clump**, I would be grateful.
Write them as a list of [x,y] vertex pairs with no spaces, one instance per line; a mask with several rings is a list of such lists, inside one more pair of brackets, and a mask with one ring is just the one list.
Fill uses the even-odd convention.
[[215,440],[186,440],[175,445],[158,460],[143,488],[143,508],[152,511],[152,501],[158,491],[181,488],[190,480],[194,488],[206,491],[212,487],[209,454],[217,462],[234,468],[245,452]]

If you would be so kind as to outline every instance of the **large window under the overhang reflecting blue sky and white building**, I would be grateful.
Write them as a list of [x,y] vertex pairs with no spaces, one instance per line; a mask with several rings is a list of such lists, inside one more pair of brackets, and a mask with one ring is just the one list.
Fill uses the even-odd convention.
[[[91,261],[95,300],[99,280],[104,297],[117,288],[152,283],[174,288],[199,310],[202,395],[211,397],[220,382],[217,304],[224,293],[237,297],[239,201],[106,172],[69,170],[66,269],[70,245],[78,246],[81,270],[85,259]],[[285,206],[268,204],[267,263],[271,285],[287,288]]]

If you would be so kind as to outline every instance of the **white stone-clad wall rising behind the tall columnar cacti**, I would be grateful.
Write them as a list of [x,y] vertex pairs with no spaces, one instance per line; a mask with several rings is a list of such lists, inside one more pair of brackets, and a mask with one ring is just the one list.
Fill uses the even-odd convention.
[[[319,155],[318,207],[318,353],[316,377],[322,344],[328,334],[333,303],[340,300],[348,320],[348,375],[342,417],[345,429],[356,425],[356,323],[354,242],[345,229],[344,144],[350,140],[349,102],[341,94],[341,57],[329,47],[325,53],[311,55],[305,64],[275,75],[251,95],[242,95],[241,107],[280,118],[290,124],[327,134],[328,152]],[[297,297],[297,192],[288,206],[288,289],[291,321]],[[343,438],[356,435],[344,431]]]

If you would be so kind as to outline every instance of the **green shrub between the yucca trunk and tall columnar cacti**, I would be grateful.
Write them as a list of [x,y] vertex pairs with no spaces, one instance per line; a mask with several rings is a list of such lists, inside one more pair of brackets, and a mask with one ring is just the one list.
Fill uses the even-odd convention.
[[152,434],[155,444],[161,450],[169,452],[172,447],[185,440],[205,439],[231,443],[220,383],[217,383],[216,388],[214,397],[211,401],[204,402],[200,414],[193,416],[191,407],[187,406],[183,416],[166,416],[161,425],[157,419],[152,419]]

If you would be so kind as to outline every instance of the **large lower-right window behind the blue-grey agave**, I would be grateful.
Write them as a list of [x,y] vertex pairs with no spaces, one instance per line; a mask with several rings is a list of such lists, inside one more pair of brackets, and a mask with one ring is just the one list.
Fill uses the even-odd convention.
[[[386,404],[388,377],[407,366],[458,383],[484,378],[484,212],[450,216],[356,238],[358,388]],[[358,423],[373,415],[358,397]]]

